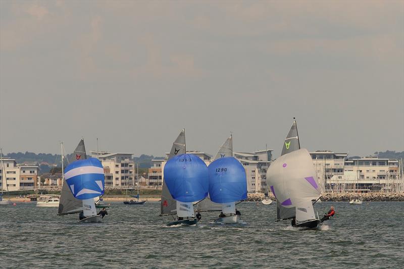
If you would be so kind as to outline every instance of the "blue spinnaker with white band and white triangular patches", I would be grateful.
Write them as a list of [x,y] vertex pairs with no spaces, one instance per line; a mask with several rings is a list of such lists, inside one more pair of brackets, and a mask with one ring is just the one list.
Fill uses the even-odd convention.
[[65,179],[77,199],[85,200],[104,194],[104,169],[96,158],[77,160],[68,165]]

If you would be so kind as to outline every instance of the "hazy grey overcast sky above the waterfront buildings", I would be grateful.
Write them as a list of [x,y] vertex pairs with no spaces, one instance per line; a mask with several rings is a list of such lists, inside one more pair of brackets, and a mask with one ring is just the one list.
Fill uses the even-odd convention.
[[404,2],[0,2],[4,152],[404,150]]

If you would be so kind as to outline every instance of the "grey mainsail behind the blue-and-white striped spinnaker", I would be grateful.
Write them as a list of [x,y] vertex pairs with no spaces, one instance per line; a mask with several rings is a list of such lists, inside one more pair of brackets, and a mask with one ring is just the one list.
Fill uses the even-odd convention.
[[[86,158],[87,155],[85,153],[84,139],[81,139],[73,152],[73,157],[71,157],[70,163]],[[83,211],[83,202],[73,196],[69,186],[65,183],[65,181],[62,182],[58,215],[73,214]]]

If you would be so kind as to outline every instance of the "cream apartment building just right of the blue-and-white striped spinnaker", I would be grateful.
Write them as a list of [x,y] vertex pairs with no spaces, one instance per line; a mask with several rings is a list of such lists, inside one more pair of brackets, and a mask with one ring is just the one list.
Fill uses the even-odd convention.
[[135,186],[135,164],[133,153],[111,153],[91,151],[91,157],[98,158],[104,167],[105,185],[111,187]]

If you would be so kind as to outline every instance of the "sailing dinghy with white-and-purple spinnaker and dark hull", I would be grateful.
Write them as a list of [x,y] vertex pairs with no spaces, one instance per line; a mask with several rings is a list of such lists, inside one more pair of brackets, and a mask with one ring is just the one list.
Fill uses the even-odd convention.
[[312,200],[321,197],[313,160],[307,149],[300,149],[296,121],[285,139],[282,155],[267,171],[267,184],[276,198],[277,221],[293,219],[292,226],[316,229]]

